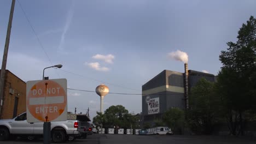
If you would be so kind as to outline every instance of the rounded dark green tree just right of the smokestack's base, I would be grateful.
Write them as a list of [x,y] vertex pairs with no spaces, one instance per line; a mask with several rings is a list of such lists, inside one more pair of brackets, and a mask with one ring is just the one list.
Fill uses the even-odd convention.
[[211,134],[219,113],[219,98],[214,91],[214,83],[200,79],[192,88],[189,105],[187,122],[190,129],[197,134]]

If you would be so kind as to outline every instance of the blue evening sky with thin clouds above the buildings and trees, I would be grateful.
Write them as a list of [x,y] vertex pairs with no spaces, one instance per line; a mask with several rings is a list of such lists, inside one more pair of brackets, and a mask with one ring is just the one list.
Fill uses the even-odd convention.
[[[2,62],[10,0],[0,1]],[[192,70],[218,74],[220,51],[256,16],[256,1],[32,1],[15,3],[7,69],[26,81],[67,79],[68,88],[95,91],[103,83],[112,93],[142,93],[142,85],[161,71],[184,71],[170,58],[185,52]],[[24,11],[22,11],[22,9]],[[25,12],[25,14],[24,14]],[[36,34],[34,34],[34,32]],[[68,89],[68,111],[90,117],[100,111],[94,92]],[[140,113],[141,95],[108,94],[104,110],[123,105]]]

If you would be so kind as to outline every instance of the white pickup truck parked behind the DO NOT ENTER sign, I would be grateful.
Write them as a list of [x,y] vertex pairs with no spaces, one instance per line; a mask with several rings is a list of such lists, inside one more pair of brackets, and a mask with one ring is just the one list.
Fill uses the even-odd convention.
[[[86,137],[86,131],[80,127],[81,123],[78,120],[51,122],[51,139],[60,143],[65,142],[69,137]],[[0,140],[8,140],[11,135],[43,136],[43,122],[28,123],[26,112],[13,119],[0,120]]]

